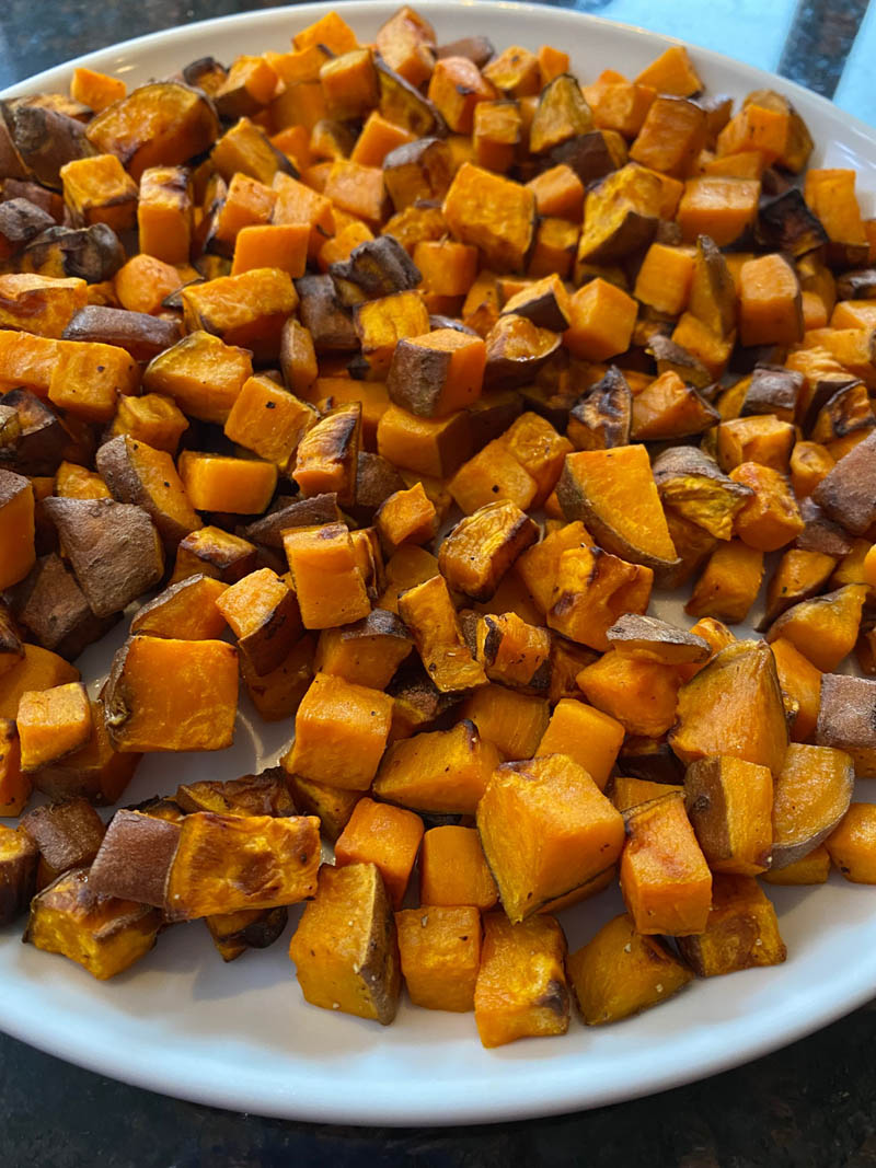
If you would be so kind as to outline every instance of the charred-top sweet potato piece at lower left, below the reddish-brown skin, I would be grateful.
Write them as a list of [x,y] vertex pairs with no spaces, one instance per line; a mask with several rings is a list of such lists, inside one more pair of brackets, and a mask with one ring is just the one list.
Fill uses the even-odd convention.
[[164,924],[158,909],[96,892],[88,869],[76,868],[34,897],[25,940],[104,980],[148,953]]

